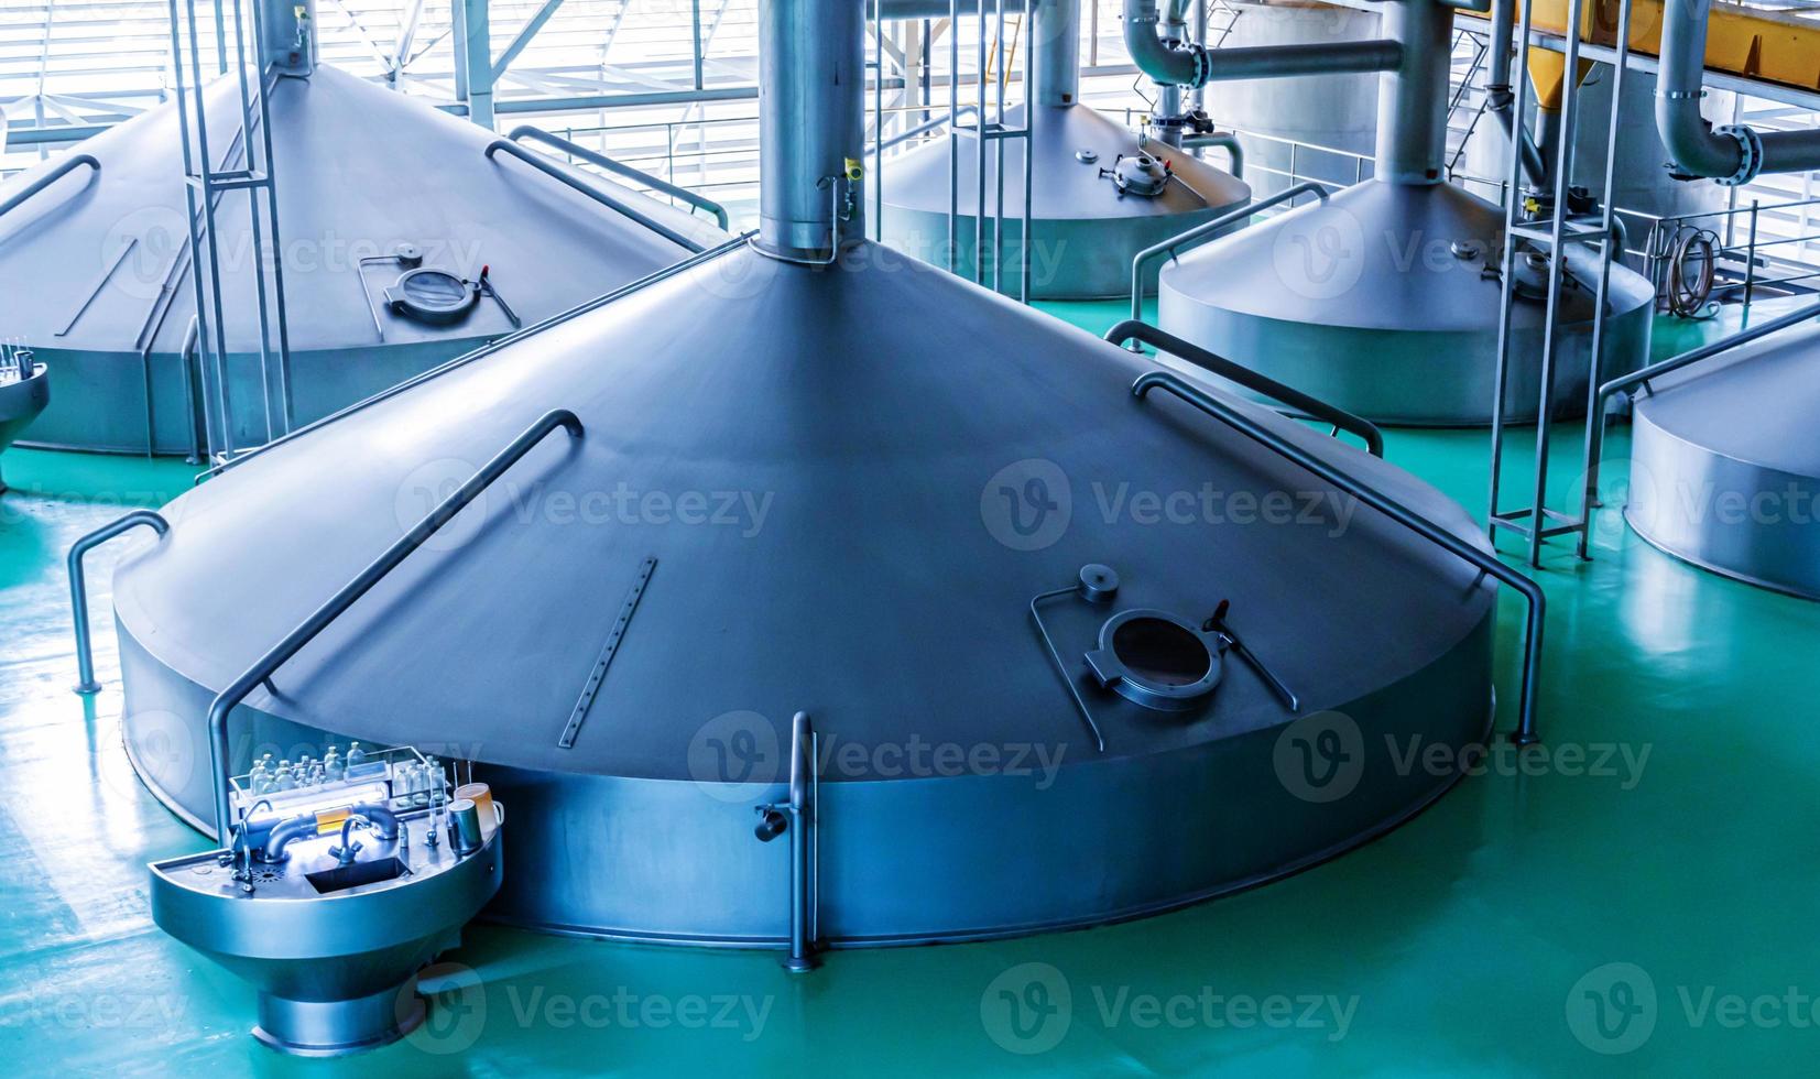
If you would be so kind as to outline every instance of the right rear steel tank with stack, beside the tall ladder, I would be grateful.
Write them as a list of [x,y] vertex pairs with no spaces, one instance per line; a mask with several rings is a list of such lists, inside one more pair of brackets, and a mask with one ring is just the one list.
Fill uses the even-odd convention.
[[[1380,93],[1376,178],[1214,240],[1163,267],[1163,329],[1380,422],[1491,422],[1498,373],[1503,209],[1443,180],[1452,15],[1385,9],[1405,44]],[[1556,400],[1585,398],[1591,249],[1571,246]],[[1538,255],[1540,257],[1540,255]],[[1507,417],[1542,393],[1545,264],[1516,260]],[[1649,357],[1651,284],[1613,267],[1603,373]]]

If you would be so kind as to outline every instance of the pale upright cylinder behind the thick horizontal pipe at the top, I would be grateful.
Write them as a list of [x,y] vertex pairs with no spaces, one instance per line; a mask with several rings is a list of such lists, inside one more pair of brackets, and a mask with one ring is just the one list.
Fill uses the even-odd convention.
[[[1219,47],[1299,45],[1378,36],[1380,15],[1314,0],[1230,0],[1212,16]],[[1223,40],[1218,27],[1228,25]],[[1378,133],[1378,76],[1241,78],[1207,87],[1207,113],[1239,131],[1252,195],[1265,198],[1292,184],[1289,173],[1323,184],[1354,184],[1370,175]],[[1307,144],[1290,147],[1287,142]],[[1345,153],[1323,153],[1330,151]],[[1208,151],[1214,153],[1214,151]]]

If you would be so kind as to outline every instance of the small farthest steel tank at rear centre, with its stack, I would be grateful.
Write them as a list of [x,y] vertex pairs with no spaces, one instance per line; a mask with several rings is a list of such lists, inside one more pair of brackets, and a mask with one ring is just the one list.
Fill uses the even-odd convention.
[[[1245,206],[1250,187],[1194,155],[1161,142],[1139,144],[1134,131],[1079,102],[1079,0],[1043,4],[1036,15],[1036,111],[1030,120],[1030,297],[1079,300],[1130,295],[1132,257],[1196,224]],[[963,91],[963,104],[966,93]],[[970,122],[970,120],[968,120]],[[1021,127],[1025,109],[1006,113],[1006,127]],[[976,206],[979,155],[972,135],[959,140],[956,255],[948,258],[950,144],[937,138],[879,167],[885,244],[917,258],[976,277]],[[992,257],[997,211],[997,149],[986,147],[986,260],[977,278],[1017,295],[1016,267],[1023,253],[1025,140],[1005,147],[1005,249]],[[1154,197],[1125,195],[1105,175],[1119,158],[1139,153],[1168,162],[1174,178]],[[1210,151],[1218,153],[1218,151]]]

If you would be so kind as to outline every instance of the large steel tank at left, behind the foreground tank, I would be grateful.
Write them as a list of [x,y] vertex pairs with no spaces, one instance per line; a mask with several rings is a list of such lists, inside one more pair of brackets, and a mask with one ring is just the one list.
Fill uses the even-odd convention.
[[[211,146],[228,160],[240,135],[235,93],[222,80],[211,95]],[[484,156],[491,135],[480,127],[342,71],[278,78],[269,102],[298,424],[513,329],[491,300],[450,326],[391,311],[384,293],[402,267],[386,257],[400,246],[460,277],[491,267],[526,322],[688,253],[522,162]],[[96,173],[76,169],[0,218],[0,337],[35,346],[55,391],[31,439],[189,453],[206,382],[184,358],[195,291],[175,102],[82,149]],[[0,198],[38,175],[0,184]],[[630,191],[621,198],[677,227],[706,227]],[[268,429],[246,195],[222,197],[217,220],[233,444],[249,446]]]

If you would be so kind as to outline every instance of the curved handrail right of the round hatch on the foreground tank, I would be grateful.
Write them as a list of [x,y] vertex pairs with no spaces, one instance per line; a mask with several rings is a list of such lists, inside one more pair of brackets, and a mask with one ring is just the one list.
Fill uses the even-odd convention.
[[1278,431],[1259,424],[1254,417],[1249,417],[1230,404],[1201,391],[1192,382],[1167,371],[1150,371],[1148,375],[1139,375],[1138,380],[1132,382],[1132,397],[1139,400],[1152,389],[1167,389],[1168,393],[1174,393],[1181,400],[1227,424],[1252,442],[1274,451],[1278,457],[1312,471],[1320,479],[1334,484],[1360,502],[1365,502],[1390,520],[1396,520],[1421,539],[1447,550],[1465,562],[1471,562],[1480,573],[1494,577],[1496,580],[1514,588],[1529,602],[1529,615],[1523,624],[1523,691],[1518,704],[1518,726],[1511,733],[1511,741],[1520,746],[1529,746],[1540,741],[1540,735],[1536,733],[1536,688],[1542,681],[1542,626],[1547,606],[1540,584],[1523,577],[1516,570],[1511,570],[1494,555],[1434,524],[1409,506],[1403,506],[1390,495],[1367,486],[1365,480],[1349,475],[1347,471],[1296,446]]

